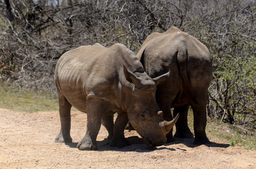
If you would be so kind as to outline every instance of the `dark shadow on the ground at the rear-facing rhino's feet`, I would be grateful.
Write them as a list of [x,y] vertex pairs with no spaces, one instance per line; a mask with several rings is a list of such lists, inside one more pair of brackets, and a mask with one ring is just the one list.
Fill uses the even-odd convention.
[[[194,148],[200,145],[197,144],[193,144],[194,139],[182,139],[182,138],[177,138],[175,137],[175,142],[170,142],[168,144],[165,145],[172,145],[172,144],[185,144],[185,146],[190,147],[190,148]],[[216,142],[211,142],[209,144],[204,144],[205,146],[208,147],[219,147],[219,148],[228,148],[228,146],[230,146],[229,144],[223,144],[223,143],[216,143]]]

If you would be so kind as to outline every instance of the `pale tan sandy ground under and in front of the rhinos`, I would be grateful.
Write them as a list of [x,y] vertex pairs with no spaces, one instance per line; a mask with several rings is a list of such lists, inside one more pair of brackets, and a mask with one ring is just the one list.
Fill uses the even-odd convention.
[[131,143],[122,149],[107,144],[100,128],[98,151],[79,151],[86,132],[86,114],[72,112],[72,144],[55,144],[57,111],[22,113],[0,109],[0,168],[255,168],[256,151],[228,146],[209,135],[214,144],[193,146],[192,139],[149,149],[141,137],[125,131]]

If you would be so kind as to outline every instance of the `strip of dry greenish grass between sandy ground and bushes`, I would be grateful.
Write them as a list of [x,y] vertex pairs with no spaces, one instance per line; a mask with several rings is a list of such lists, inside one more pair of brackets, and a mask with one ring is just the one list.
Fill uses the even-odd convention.
[[[57,111],[57,94],[38,91],[19,91],[16,87],[1,85],[0,108],[13,111],[35,113],[38,111]],[[193,128],[192,111],[189,113],[189,126]],[[208,119],[206,134],[211,138],[221,139],[230,143],[231,146],[244,146],[245,149],[256,149],[256,135],[253,130],[246,130],[243,126],[228,125],[218,120]]]

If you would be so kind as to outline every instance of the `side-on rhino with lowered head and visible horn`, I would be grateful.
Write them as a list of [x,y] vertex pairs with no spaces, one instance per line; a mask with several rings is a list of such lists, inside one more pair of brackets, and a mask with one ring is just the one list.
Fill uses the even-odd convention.
[[[100,44],[67,51],[56,65],[55,83],[59,95],[61,130],[55,142],[72,142],[71,106],[87,113],[86,135],[77,147],[97,149],[96,137],[101,123],[111,139],[110,145],[127,145],[124,127],[128,118],[149,146],[165,144],[165,134],[175,121],[163,120],[156,103],[156,84],[168,73],[151,79],[139,59],[122,44],[105,48]],[[113,123],[113,114],[118,116]]]

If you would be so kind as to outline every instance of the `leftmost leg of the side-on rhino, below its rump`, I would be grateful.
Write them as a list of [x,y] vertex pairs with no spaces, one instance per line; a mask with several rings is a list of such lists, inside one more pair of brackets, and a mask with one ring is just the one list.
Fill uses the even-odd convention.
[[72,142],[72,139],[70,137],[70,126],[71,126],[70,110],[71,110],[71,104],[69,104],[69,101],[67,101],[62,94],[59,94],[59,118],[61,122],[61,130],[58,136],[55,138],[55,142],[57,143]]

